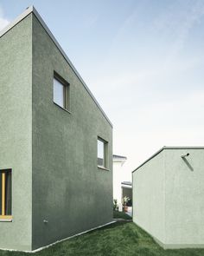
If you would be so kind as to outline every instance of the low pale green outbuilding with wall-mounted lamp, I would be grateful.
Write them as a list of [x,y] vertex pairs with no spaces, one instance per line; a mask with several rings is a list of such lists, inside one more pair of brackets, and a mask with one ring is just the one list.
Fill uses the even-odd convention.
[[203,147],[163,147],[132,180],[138,226],[165,249],[204,247]]

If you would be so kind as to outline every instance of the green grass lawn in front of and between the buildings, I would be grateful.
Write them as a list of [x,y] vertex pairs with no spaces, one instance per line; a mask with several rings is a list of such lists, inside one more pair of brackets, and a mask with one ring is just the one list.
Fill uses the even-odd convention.
[[[0,256],[31,255],[0,251]],[[35,256],[62,255],[123,255],[123,256],[203,256],[204,249],[181,249],[164,251],[156,242],[133,222],[120,221],[61,242]]]

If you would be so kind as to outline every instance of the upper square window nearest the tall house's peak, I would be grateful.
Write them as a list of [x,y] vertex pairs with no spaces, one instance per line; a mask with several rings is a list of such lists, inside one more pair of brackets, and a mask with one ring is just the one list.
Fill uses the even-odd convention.
[[59,75],[54,75],[53,82],[53,101],[61,108],[69,108],[69,84]]

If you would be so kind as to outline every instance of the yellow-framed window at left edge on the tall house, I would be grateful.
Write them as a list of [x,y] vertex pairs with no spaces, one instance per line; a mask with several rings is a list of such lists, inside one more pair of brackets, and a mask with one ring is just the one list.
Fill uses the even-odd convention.
[[0,219],[11,219],[11,170],[0,170]]

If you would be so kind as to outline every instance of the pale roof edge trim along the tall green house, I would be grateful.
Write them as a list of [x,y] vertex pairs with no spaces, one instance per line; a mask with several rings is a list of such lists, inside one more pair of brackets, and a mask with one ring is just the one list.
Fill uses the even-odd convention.
[[0,31],[0,37],[3,36],[5,33],[7,33],[9,30],[11,30],[14,26],[16,26],[17,23],[20,23],[22,21],[22,19],[24,19],[26,16],[28,16],[30,13],[34,13],[34,15],[36,16],[36,18],[39,20],[39,22],[41,23],[42,27],[44,28],[44,30],[46,30],[46,32],[48,33],[48,36],[51,37],[51,39],[54,41],[56,47],[60,50],[62,56],[64,56],[64,58],[66,59],[66,61],[68,62],[68,64],[70,65],[70,67],[73,69],[73,72],[75,73],[75,75],[78,76],[78,78],[80,79],[80,82],[83,84],[83,86],[85,87],[86,91],[88,92],[88,94],[92,97],[93,102],[96,103],[97,107],[100,109],[100,111],[102,112],[102,114],[105,116],[106,121],[109,122],[109,124],[112,127],[112,122],[109,120],[109,118],[107,117],[107,115],[105,114],[103,108],[100,107],[99,102],[97,102],[96,98],[94,97],[94,95],[92,95],[91,90],[87,87],[86,82],[84,82],[83,78],[80,76],[79,72],[74,68],[73,63],[70,61],[70,59],[68,58],[67,54],[65,53],[65,51],[61,48],[61,45],[57,42],[57,40],[55,39],[53,33],[48,29],[48,26],[46,25],[46,23],[42,20],[40,14],[37,12],[37,10],[35,10],[35,7],[33,5],[31,5],[29,8],[27,8],[26,10],[24,10],[22,12],[22,14],[20,16],[17,16],[16,19],[11,22],[9,25],[7,25],[3,30]]

